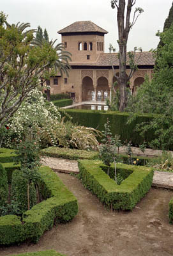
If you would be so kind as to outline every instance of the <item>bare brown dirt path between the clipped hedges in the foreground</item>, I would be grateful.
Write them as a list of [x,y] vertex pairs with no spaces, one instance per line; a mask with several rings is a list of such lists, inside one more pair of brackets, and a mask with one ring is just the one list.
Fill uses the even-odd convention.
[[77,196],[79,214],[45,232],[38,244],[0,248],[0,255],[54,249],[68,256],[170,256],[173,226],[168,223],[172,191],[152,188],[133,212],[110,212],[80,181],[57,173]]

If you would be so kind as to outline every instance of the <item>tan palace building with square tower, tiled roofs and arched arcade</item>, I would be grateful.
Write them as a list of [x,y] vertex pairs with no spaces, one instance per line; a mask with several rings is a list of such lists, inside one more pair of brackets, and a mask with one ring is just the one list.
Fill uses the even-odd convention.
[[[119,73],[117,53],[105,53],[104,36],[108,32],[91,21],[78,21],[59,30],[65,50],[71,52],[69,77],[50,78],[50,93],[70,93],[75,102],[105,100],[110,97],[114,72]],[[138,70],[130,79],[130,89],[135,93],[144,83],[144,77],[152,77],[154,57],[151,52],[136,52],[135,64]],[[112,68],[114,67],[114,70]],[[130,67],[127,63],[127,75]],[[118,86],[118,85],[117,85]]]

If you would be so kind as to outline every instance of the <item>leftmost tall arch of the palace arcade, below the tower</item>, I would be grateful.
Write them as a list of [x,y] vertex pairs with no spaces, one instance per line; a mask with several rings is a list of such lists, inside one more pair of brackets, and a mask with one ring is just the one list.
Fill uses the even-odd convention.
[[94,86],[93,79],[89,76],[85,76],[82,79],[82,101],[93,100],[94,97]]

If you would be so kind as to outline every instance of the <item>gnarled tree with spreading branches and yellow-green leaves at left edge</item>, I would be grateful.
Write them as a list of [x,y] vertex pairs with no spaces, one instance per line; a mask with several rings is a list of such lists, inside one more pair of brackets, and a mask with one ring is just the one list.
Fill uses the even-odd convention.
[[61,63],[60,56],[49,44],[31,47],[33,30],[27,24],[10,25],[0,13],[0,128],[19,109],[29,92],[40,84],[41,77],[49,79],[47,67]]

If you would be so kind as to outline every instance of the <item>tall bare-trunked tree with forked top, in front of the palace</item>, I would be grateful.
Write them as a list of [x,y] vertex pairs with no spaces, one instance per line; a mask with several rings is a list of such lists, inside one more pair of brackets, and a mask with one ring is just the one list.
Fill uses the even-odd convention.
[[[117,9],[117,27],[118,27],[118,45],[119,45],[119,76],[116,77],[118,83],[120,84],[120,104],[119,111],[124,111],[126,108],[126,87],[130,78],[133,76],[133,72],[136,70],[136,67],[133,63],[131,71],[128,77],[126,77],[126,51],[127,51],[127,42],[128,34],[130,29],[137,21],[139,15],[144,12],[142,8],[135,8],[133,13],[132,22],[130,22],[130,16],[132,12],[132,7],[135,5],[136,0],[128,0],[127,6],[125,0],[112,0],[112,8]],[[126,15],[125,15],[126,9]]]

